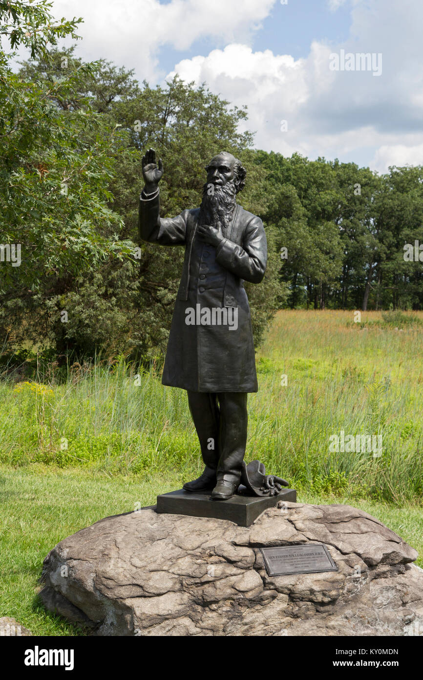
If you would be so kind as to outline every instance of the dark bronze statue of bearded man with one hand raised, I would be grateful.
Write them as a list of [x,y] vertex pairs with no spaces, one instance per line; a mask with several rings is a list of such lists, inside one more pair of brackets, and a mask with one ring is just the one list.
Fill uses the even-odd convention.
[[246,178],[240,161],[221,152],[206,173],[200,208],[160,218],[163,166],[150,149],[143,156],[139,233],[149,243],[185,247],[162,383],[187,390],[200,440],[204,472],[183,488],[225,500],[240,484],[247,393],[258,389],[243,282],[263,279],[267,243],[260,218],[236,202]]

